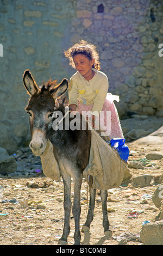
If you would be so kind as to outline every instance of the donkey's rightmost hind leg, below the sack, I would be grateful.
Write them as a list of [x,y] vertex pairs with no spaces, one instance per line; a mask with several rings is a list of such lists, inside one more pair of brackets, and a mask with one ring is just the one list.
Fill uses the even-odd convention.
[[107,197],[108,197],[108,191],[107,190],[101,190],[100,196],[102,200],[102,209],[103,209],[103,227],[104,227],[104,233],[106,236],[111,236],[112,232],[109,230],[109,220],[108,220],[108,211],[107,211]]

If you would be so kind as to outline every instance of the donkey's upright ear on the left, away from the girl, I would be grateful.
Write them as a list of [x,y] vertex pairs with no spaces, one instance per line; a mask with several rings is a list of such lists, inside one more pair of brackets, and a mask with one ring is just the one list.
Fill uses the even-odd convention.
[[23,83],[24,83],[24,87],[27,90],[27,93],[30,95],[33,95],[39,90],[29,69],[24,71]]

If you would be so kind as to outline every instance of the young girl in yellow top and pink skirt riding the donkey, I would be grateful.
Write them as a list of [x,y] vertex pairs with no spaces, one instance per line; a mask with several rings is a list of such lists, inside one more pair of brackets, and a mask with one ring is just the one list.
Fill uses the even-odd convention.
[[[106,136],[123,138],[114,97],[108,93],[108,77],[100,70],[99,56],[96,46],[81,40],[65,51],[70,65],[77,72],[70,78],[68,90],[69,108],[82,114],[92,112],[92,125],[100,123],[101,129],[109,131]],[[107,99],[106,99],[107,97]],[[111,113],[107,115],[106,113]],[[99,121],[100,120],[100,121]],[[110,129],[106,129],[110,127]]]

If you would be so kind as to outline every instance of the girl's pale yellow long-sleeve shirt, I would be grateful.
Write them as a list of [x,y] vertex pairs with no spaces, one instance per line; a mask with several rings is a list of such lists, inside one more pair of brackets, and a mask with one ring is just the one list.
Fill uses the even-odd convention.
[[108,77],[103,72],[96,69],[92,70],[96,74],[90,81],[86,81],[78,71],[70,78],[69,104],[78,106],[78,100],[84,105],[93,104],[92,112],[96,111],[97,114],[95,115],[99,115],[108,93],[109,82]]

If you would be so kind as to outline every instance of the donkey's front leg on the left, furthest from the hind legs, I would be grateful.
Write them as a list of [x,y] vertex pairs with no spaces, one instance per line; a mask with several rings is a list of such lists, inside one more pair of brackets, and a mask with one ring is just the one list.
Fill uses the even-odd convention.
[[62,175],[64,182],[64,211],[65,211],[65,222],[62,237],[58,241],[59,245],[67,245],[67,237],[70,233],[70,212],[71,212],[71,176]]

